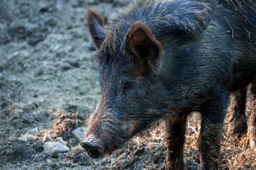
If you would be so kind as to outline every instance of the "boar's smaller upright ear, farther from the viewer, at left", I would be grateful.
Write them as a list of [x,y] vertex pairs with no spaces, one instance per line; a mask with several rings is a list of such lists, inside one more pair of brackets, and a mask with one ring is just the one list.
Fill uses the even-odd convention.
[[92,40],[97,48],[102,45],[102,42],[106,38],[106,32],[103,29],[103,19],[98,12],[88,9],[86,18],[86,25],[92,36]]

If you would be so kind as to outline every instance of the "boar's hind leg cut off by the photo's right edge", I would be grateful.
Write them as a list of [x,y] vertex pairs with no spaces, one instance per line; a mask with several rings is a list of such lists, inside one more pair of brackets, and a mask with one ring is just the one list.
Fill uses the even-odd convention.
[[247,132],[250,144],[254,148],[256,140],[256,81],[252,83],[251,87],[251,116],[248,121]]

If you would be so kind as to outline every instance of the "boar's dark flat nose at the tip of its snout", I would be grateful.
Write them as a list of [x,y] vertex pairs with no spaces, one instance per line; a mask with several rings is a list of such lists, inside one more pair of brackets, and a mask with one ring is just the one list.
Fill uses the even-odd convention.
[[99,158],[101,156],[99,152],[99,146],[89,143],[87,141],[80,141],[79,145],[84,148],[85,152],[87,153],[87,155],[89,155],[89,157]]

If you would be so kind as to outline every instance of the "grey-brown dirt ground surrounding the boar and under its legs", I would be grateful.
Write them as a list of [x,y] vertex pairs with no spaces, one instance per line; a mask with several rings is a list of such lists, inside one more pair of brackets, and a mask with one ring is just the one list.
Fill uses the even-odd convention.
[[[122,0],[0,2],[0,168],[1,169],[149,169],[164,164],[161,126],[135,137],[112,155],[90,159],[73,130],[86,120],[99,97],[95,48],[84,26],[90,7],[111,17]],[[249,106],[250,103],[247,103]],[[247,107],[247,115],[250,107]],[[197,138],[200,115],[187,125],[186,169],[200,165]],[[69,151],[54,157],[44,151],[44,137]],[[44,141],[45,140],[45,141]],[[255,148],[254,148],[255,149]],[[224,135],[222,168],[256,168],[247,136]]]

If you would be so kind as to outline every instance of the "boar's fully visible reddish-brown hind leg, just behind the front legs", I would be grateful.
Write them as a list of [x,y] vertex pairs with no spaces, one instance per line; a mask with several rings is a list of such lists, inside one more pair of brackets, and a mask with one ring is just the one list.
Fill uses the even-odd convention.
[[228,128],[226,134],[233,136],[246,131],[246,88],[242,88],[231,94],[230,108],[227,111]]

